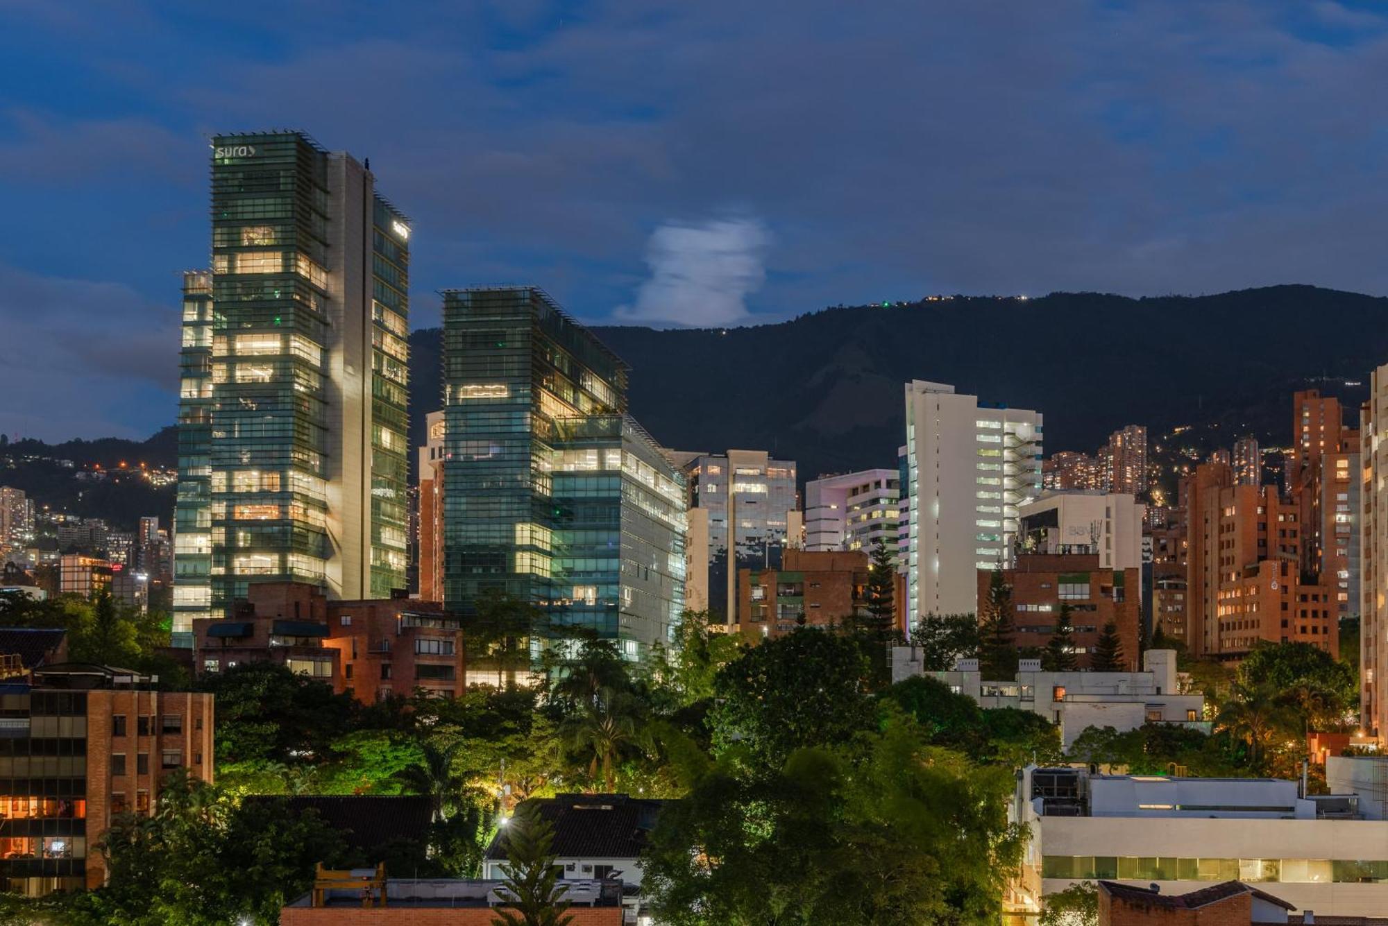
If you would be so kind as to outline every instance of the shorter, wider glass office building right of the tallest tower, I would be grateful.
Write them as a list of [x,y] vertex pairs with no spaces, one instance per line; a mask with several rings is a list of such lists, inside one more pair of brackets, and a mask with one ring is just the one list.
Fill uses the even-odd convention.
[[541,290],[444,292],[444,602],[490,589],[552,625],[669,639],[684,482],[626,412],[626,365]]

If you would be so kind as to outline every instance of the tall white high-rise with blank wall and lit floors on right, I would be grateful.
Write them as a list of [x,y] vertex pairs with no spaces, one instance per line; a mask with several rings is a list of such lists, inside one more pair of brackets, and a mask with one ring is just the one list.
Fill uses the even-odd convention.
[[906,617],[977,611],[979,570],[1012,561],[1041,493],[1041,413],[906,384]]

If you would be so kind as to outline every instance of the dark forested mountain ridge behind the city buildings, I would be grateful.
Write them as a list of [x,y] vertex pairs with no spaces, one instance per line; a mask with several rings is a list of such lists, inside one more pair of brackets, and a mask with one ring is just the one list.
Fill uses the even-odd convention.
[[[1289,438],[1291,394],[1351,406],[1388,362],[1388,298],[1305,284],[1214,295],[1052,292],[827,306],[733,329],[590,326],[632,365],[630,412],[676,449],[766,449],[802,480],[895,466],[902,385],[933,380],[1045,416],[1047,452],[1124,424],[1216,420]],[[441,405],[439,329],[411,335],[412,435]],[[1338,383],[1339,385],[1331,385]],[[434,396],[432,408],[426,408]]]

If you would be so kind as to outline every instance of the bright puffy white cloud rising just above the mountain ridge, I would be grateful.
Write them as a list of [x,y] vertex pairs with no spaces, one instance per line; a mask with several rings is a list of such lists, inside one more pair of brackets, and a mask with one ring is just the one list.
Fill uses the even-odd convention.
[[612,315],[638,324],[718,327],[747,322],[747,297],[766,281],[770,234],[756,219],[668,222],[651,233],[651,277],[636,305]]

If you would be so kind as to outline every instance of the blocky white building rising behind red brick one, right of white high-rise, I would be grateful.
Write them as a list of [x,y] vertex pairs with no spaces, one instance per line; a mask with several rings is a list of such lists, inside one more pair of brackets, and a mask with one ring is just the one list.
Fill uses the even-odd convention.
[[1106,570],[1142,568],[1146,506],[1128,493],[1045,491],[1017,510],[1030,552],[1098,553]]

